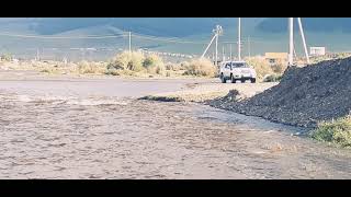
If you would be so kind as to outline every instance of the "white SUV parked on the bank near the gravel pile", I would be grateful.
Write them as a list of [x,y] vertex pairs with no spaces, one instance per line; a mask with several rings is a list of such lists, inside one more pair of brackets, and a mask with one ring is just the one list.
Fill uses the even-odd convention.
[[219,78],[223,83],[226,83],[227,80],[230,80],[231,83],[236,83],[237,80],[240,80],[241,83],[245,83],[246,80],[256,83],[256,71],[246,61],[224,61],[220,65]]

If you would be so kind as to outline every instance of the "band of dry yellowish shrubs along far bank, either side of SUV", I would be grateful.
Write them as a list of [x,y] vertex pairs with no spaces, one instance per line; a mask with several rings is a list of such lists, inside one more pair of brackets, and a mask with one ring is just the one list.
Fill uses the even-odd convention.
[[[48,74],[107,74],[121,77],[205,77],[213,78],[217,68],[205,58],[191,59],[180,63],[165,62],[158,55],[145,55],[139,51],[123,51],[109,62],[80,61],[20,61],[12,63],[10,56],[3,55],[2,61],[8,69],[37,70]],[[253,66],[260,81],[278,81],[286,69],[281,66],[270,66],[263,58],[248,58],[248,63]]]

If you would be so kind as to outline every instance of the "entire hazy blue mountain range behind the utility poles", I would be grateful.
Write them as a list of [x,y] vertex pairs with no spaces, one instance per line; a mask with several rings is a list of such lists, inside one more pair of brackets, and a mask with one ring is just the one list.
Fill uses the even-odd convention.
[[[121,35],[123,32],[156,36],[178,37],[202,42],[203,44],[177,44],[157,39],[133,37],[133,46],[152,46],[152,50],[171,53],[201,54],[210,42],[212,30],[219,24],[224,27],[220,40],[237,40],[237,18],[1,18],[0,53],[30,54],[34,48],[80,48],[116,47],[126,48],[124,38],[106,39],[39,39],[20,38],[10,35],[41,36],[90,36]],[[351,18],[303,18],[309,45],[326,46],[329,50],[351,48]],[[297,26],[296,26],[297,27]],[[297,31],[298,28],[296,28]],[[296,34],[296,36],[298,36]],[[248,37],[251,37],[250,47]],[[245,54],[264,51],[285,51],[287,47],[286,18],[242,18],[242,39]],[[296,40],[296,48],[301,43]],[[228,44],[223,44],[228,51]],[[250,51],[248,51],[250,48]],[[236,53],[233,47],[233,53]],[[211,51],[210,51],[211,53]],[[67,53],[66,53],[67,54]]]

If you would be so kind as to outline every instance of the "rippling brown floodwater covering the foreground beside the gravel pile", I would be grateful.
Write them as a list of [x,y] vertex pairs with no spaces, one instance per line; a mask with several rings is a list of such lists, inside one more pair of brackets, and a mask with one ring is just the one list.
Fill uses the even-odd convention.
[[0,178],[351,178],[351,151],[301,128],[135,100],[186,81],[118,82],[0,81]]

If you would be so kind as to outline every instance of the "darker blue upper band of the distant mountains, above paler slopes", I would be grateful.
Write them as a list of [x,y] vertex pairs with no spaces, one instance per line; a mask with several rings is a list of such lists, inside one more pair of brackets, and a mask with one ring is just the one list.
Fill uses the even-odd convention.
[[[268,33],[286,32],[286,18],[244,18],[244,26]],[[351,18],[304,18],[309,32],[351,32]],[[210,32],[216,24],[236,27],[237,18],[1,18],[0,28],[55,35],[91,26],[113,26],[120,30],[156,36],[183,37]],[[12,30],[11,30],[12,28]]]

